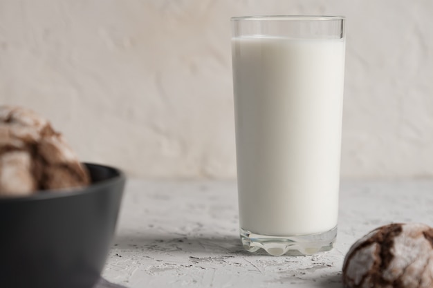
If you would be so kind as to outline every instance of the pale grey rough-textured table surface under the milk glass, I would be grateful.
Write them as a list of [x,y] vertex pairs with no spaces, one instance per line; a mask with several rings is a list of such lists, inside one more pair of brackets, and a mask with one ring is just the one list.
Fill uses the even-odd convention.
[[243,251],[236,182],[129,180],[102,276],[127,287],[342,287],[351,244],[390,222],[433,224],[433,180],[343,181],[335,248]]

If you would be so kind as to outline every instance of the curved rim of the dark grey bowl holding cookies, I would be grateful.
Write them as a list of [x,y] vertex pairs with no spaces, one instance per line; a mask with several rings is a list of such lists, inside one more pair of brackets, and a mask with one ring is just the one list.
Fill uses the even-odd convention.
[[68,198],[68,197],[74,197],[83,194],[96,193],[97,191],[100,191],[106,186],[112,186],[113,184],[118,184],[120,182],[126,181],[125,173],[123,173],[122,170],[116,167],[107,166],[103,164],[88,163],[88,162],[82,162],[82,164],[87,168],[93,166],[102,169],[109,169],[111,171],[114,171],[114,173],[116,173],[117,175],[113,177],[109,177],[106,180],[101,180],[95,183],[91,183],[86,186],[72,187],[66,189],[53,189],[50,190],[49,192],[48,190],[46,190],[43,191],[42,193],[39,193],[39,191],[37,191],[32,195],[24,195],[24,196],[5,196],[0,198],[0,204],[6,202],[30,202],[30,201],[38,201],[38,200]]

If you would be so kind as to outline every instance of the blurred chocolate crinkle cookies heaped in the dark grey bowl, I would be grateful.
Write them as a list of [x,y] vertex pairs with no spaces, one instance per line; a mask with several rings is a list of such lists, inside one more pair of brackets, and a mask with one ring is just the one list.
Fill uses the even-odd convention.
[[89,182],[89,173],[47,119],[26,108],[0,106],[0,196]]

